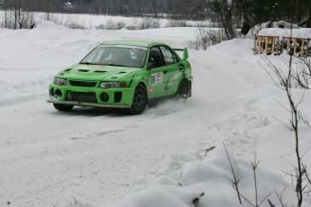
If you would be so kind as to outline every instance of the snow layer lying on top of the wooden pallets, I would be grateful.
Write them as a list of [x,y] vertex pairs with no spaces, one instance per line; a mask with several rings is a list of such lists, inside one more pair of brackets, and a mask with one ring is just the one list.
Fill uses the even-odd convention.
[[294,37],[294,38],[308,38],[311,39],[311,29],[310,28],[300,28],[300,29],[282,29],[282,28],[266,28],[262,29],[258,35],[262,36],[279,36],[283,37]]

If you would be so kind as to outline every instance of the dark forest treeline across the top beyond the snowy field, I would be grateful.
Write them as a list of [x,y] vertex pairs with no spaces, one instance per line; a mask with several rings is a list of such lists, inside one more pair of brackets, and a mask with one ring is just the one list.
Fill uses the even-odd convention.
[[[67,7],[70,2],[72,7]],[[0,0],[2,10],[20,7],[23,11],[108,14],[124,16],[152,15],[188,20],[216,20],[226,7],[234,17],[250,23],[301,22],[311,13],[309,0]],[[291,13],[291,10],[294,10]]]

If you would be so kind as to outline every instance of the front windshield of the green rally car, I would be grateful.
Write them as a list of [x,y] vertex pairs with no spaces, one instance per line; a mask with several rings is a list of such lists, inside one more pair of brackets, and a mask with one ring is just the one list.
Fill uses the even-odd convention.
[[135,46],[100,45],[80,64],[119,67],[144,67],[147,49]]

